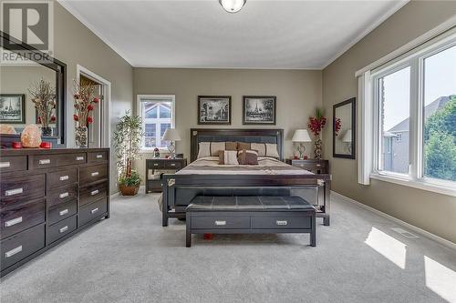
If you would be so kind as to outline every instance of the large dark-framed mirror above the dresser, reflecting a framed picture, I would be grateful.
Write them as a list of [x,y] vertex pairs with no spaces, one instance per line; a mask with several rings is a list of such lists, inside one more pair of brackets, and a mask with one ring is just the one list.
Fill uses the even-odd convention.
[[16,54],[29,59],[17,64],[12,61],[0,61],[2,147],[10,147],[11,142],[20,141],[20,134],[26,125],[41,124],[41,118],[32,102],[33,96],[30,94],[30,89],[42,80],[55,91],[55,108],[48,111],[50,118],[43,140],[52,142],[53,147],[66,146],[67,65],[2,31],[0,31],[0,43],[2,56],[13,57]]

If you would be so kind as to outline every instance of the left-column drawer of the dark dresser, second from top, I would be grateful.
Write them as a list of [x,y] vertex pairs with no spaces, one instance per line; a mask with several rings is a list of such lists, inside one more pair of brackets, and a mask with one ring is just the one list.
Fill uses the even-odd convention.
[[0,180],[1,207],[18,199],[33,199],[45,196],[45,175],[6,178]]

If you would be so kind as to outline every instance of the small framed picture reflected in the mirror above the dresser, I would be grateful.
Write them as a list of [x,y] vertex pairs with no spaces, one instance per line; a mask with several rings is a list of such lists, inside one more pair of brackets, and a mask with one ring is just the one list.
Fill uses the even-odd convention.
[[0,123],[26,124],[26,95],[0,94]]

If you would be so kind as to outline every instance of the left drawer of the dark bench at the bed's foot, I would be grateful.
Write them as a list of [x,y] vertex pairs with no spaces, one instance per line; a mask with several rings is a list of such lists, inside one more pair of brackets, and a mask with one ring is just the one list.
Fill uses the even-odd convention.
[[250,217],[240,216],[217,216],[211,217],[193,217],[192,216],[192,229],[237,229],[237,228],[250,228]]

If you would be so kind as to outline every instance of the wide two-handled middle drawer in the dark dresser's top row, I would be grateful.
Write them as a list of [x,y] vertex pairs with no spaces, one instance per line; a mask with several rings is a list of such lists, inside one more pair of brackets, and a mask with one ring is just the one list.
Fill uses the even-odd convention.
[[63,167],[86,163],[86,153],[62,154],[62,155],[31,155],[28,157],[30,169]]

